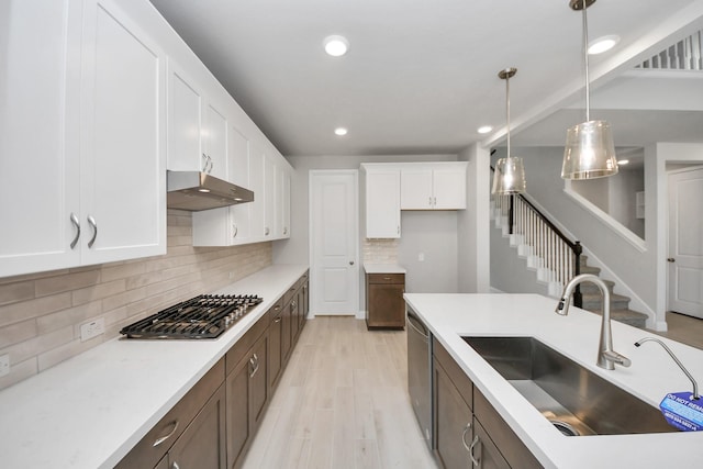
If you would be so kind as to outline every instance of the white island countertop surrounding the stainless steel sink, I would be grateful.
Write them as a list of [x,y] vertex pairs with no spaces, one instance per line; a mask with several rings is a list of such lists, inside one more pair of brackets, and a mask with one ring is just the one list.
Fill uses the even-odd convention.
[[[691,381],[656,344],[635,347],[651,333],[613,322],[613,348],[632,360],[609,371],[595,366],[601,317],[537,294],[420,294],[405,301],[447,348],[475,386],[547,468],[700,467],[703,432],[563,436],[461,336],[533,336],[655,407],[668,392],[691,391]],[[703,350],[658,337],[703,381]]]

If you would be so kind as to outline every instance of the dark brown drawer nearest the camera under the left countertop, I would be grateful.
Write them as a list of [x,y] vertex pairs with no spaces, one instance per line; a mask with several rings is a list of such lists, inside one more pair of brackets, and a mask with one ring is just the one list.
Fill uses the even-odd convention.
[[155,467],[223,382],[224,359],[221,359],[154,425],[116,468]]

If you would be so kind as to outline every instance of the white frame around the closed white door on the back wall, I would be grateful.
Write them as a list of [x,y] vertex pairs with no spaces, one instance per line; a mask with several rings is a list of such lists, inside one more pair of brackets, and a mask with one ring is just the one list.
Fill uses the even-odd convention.
[[[309,252],[309,265],[310,265],[310,304],[313,305],[315,304],[313,302],[313,294],[316,294],[316,292],[320,292],[321,289],[319,288],[319,279],[316,276],[316,270],[315,270],[315,246],[313,243],[314,236],[313,236],[313,226],[314,226],[314,208],[313,208],[313,191],[314,191],[314,186],[315,186],[315,179],[317,178],[322,178],[325,176],[339,176],[339,175],[350,175],[354,176],[354,192],[355,192],[355,197],[354,197],[354,233],[355,233],[355,239],[356,239],[356,253],[355,253],[355,259],[354,263],[357,266],[358,271],[361,271],[361,266],[359,265],[359,259],[360,259],[360,241],[359,241],[359,170],[358,169],[311,169],[309,171],[308,175],[308,252]],[[356,311],[353,312],[355,317],[364,317],[364,311],[361,311],[361,300],[360,300],[360,295],[361,295],[361,281],[360,281],[360,275],[356,275],[354,276],[354,281],[356,282],[356,300],[355,300],[355,304],[356,304]],[[317,293],[319,294],[319,293]],[[310,309],[309,311],[309,319],[314,319],[315,317],[315,312],[313,310],[313,308]]]

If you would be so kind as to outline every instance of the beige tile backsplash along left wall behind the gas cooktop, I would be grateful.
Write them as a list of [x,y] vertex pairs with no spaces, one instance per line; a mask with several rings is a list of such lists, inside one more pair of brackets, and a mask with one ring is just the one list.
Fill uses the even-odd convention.
[[[119,335],[166,305],[210,292],[271,265],[271,243],[193,247],[190,212],[168,211],[164,256],[0,278],[0,389]],[[80,326],[104,319],[105,333],[80,340]]]

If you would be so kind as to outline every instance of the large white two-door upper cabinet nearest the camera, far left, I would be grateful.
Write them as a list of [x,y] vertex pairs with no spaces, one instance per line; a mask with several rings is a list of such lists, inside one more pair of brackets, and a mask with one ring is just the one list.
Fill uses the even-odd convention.
[[165,253],[164,54],[113,1],[8,11],[0,276]]

